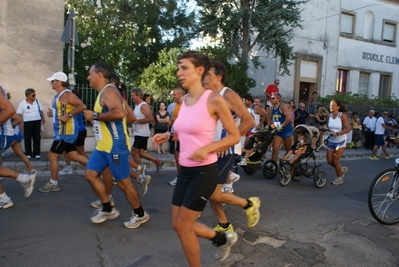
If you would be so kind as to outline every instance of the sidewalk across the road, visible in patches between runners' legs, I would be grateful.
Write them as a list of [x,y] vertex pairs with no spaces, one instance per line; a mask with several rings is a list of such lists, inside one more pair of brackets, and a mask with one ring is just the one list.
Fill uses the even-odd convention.
[[[399,157],[399,149],[395,148],[387,148],[387,151],[389,154],[395,157]],[[279,157],[282,157],[285,153],[284,150],[279,151]],[[176,166],[176,162],[174,159],[174,155],[170,153],[158,155],[155,152],[149,152],[153,157],[155,158],[160,158],[164,160],[164,167],[174,167]],[[267,157],[269,158],[271,155],[271,152],[267,152]],[[42,158],[41,159],[31,159],[31,163],[33,168],[35,168],[38,171],[49,171],[50,170],[50,163],[47,158],[47,153],[42,152]],[[317,159],[319,160],[325,160],[326,158],[326,152],[325,150],[320,150],[319,152],[316,153]],[[364,148],[357,148],[357,149],[346,149],[343,155],[343,160],[345,158],[364,158],[365,161],[370,161],[369,157],[371,156],[371,150],[366,150]],[[382,158],[384,159],[384,158]],[[151,161],[148,161],[146,159],[142,159],[142,163],[144,163],[147,168],[154,168],[155,169],[155,164]],[[65,161],[63,156],[59,157],[59,164],[60,164],[60,169],[62,169],[65,166]],[[25,164],[21,161],[19,157],[17,157],[15,154],[11,154],[10,156],[3,158],[3,166],[8,167],[12,170],[22,172],[26,171]],[[71,162],[72,169],[74,170],[84,170],[84,166],[80,165],[79,163]]]

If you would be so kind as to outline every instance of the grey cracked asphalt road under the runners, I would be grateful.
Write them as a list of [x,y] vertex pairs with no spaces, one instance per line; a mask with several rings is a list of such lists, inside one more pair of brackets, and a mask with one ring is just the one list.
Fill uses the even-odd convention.
[[[239,241],[229,259],[219,264],[213,260],[214,247],[201,240],[203,266],[399,266],[399,225],[380,225],[367,207],[370,181],[394,159],[344,162],[349,167],[345,183],[323,189],[308,178],[281,187],[260,171],[247,176],[240,170],[236,194],[259,196],[262,219],[248,229],[242,210],[226,206]],[[331,182],[332,168],[321,168]],[[153,169],[149,173],[154,174]],[[81,175],[61,177],[58,193],[35,191],[28,199],[17,183],[4,180],[15,207],[0,210],[0,266],[187,266],[170,226],[173,187],[167,181],[174,174],[172,168],[154,174],[142,198],[151,219],[135,230],[123,227],[131,209],[116,187],[120,217],[94,225],[89,220],[93,193]],[[48,178],[47,172],[40,175],[36,188]],[[216,224],[209,207],[199,220]]]

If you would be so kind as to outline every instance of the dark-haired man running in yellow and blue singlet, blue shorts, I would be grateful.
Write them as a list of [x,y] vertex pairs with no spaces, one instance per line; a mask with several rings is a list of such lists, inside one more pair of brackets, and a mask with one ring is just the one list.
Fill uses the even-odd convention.
[[117,185],[133,208],[132,217],[124,225],[126,228],[137,228],[147,222],[150,216],[141,206],[137,190],[130,180],[130,143],[125,121],[128,112],[132,111],[126,108],[126,102],[122,99],[119,90],[109,84],[111,74],[112,71],[108,65],[95,63],[90,68],[87,77],[90,87],[98,91],[99,94],[94,111],[84,111],[85,119],[93,122],[97,143],[87,164],[85,177],[102,203],[102,207],[90,220],[92,223],[102,223],[119,216],[119,211],[112,207],[104,181],[100,178],[101,172],[109,167]]

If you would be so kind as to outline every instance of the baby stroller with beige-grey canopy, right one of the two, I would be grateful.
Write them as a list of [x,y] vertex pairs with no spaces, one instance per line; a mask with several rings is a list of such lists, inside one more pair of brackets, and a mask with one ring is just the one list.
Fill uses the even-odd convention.
[[[294,129],[294,138],[302,132],[306,136],[306,151],[293,163],[287,160],[280,160],[280,175],[278,177],[278,183],[281,186],[286,186],[290,183],[291,178],[294,181],[299,181],[302,177],[313,176],[313,184],[316,188],[322,188],[327,183],[327,174],[324,171],[319,171],[321,164],[316,162],[316,152],[323,146],[319,144],[319,129],[314,126],[307,126],[300,124]],[[294,140],[295,143],[297,140]]]

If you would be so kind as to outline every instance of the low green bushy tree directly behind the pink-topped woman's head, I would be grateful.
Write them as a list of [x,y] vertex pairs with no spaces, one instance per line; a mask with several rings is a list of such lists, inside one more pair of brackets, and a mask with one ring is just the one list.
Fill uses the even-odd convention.
[[[165,100],[170,97],[173,88],[180,86],[177,80],[177,59],[187,49],[164,49],[159,52],[158,61],[148,66],[140,76],[140,87],[153,99]],[[241,63],[231,64],[231,53],[222,48],[205,47],[202,53],[210,58],[223,62],[228,70],[226,86],[233,88],[238,94],[245,95],[248,89],[255,86],[255,81],[242,75],[246,66]]]

